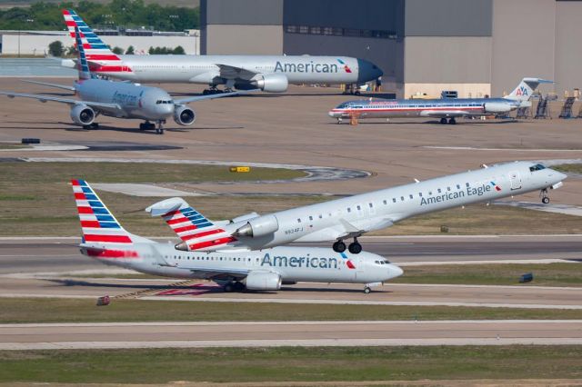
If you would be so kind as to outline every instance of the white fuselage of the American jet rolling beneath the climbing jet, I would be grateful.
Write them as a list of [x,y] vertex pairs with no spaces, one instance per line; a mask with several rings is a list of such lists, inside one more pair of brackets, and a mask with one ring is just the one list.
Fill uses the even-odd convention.
[[[180,252],[174,243],[135,242],[111,250],[82,253],[105,264],[140,273],[172,278],[210,277],[220,270],[278,273],[284,282],[381,283],[401,275],[402,270],[374,253],[335,253],[331,249],[276,247],[249,252]],[[161,262],[167,265],[160,265]],[[196,270],[199,269],[199,270]]]

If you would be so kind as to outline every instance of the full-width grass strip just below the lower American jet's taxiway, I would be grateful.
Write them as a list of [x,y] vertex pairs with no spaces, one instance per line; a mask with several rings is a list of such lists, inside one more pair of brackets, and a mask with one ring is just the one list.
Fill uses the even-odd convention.
[[582,319],[580,310],[0,298],[0,323]]

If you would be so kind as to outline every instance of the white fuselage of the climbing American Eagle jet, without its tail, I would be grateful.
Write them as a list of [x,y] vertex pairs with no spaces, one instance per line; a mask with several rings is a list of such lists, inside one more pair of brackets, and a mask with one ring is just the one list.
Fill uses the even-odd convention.
[[276,218],[277,230],[260,237],[242,236],[237,243],[259,249],[295,241],[333,241],[353,231],[351,227],[371,232],[422,213],[551,188],[566,177],[535,163],[498,164],[264,215]]

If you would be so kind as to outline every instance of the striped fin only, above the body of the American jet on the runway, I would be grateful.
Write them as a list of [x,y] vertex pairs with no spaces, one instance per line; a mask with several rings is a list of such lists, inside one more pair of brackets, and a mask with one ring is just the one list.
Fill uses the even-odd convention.
[[125,231],[85,180],[71,180],[71,185],[73,185],[76,209],[81,220],[83,243],[105,247],[134,243],[134,235]]

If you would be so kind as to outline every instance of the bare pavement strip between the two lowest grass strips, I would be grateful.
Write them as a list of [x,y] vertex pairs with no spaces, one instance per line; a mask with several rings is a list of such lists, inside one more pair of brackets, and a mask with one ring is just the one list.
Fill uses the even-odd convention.
[[582,344],[582,321],[0,325],[0,350]]

